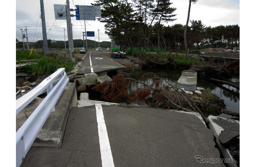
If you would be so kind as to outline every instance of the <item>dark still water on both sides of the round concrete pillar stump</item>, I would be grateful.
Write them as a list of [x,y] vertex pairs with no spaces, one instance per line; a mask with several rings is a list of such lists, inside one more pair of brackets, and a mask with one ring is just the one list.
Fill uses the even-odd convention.
[[[133,71],[132,73],[128,73],[131,78],[134,78],[138,81],[141,81],[141,76],[145,73],[155,73],[160,78],[165,81],[168,81],[172,85],[177,86],[177,81],[181,76],[182,70],[162,70],[162,69],[150,69],[150,70],[143,70],[143,71]],[[239,76],[232,78],[232,81],[239,82]],[[131,82],[131,90],[135,89],[136,82]],[[209,81],[207,79],[197,78],[197,86],[210,91],[213,94],[216,94],[220,99],[223,99],[226,104],[226,109],[239,112],[240,108],[240,95],[239,90],[233,88],[232,86],[228,86],[221,83],[216,83],[213,81]],[[231,116],[227,114],[220,114],[219,116],[230,118]]]

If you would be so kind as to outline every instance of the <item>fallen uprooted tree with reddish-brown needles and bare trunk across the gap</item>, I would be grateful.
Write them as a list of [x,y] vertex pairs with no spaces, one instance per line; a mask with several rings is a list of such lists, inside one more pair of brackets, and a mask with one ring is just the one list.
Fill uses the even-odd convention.
[[[146,77],[150,77],[153,79],[153,82],[150,83],[149,80],[145,79]],[[128,96],[128,88],[130,86],[130,81],[136,81],[138,83],[138,88],[136,91],[133,91]],[[120,99],[128,98],[128,104],[135,102],[137,100],[144,101],[146,104],[149,104],[149,96],[152,95],[152,101],[164,101],[163,106],[169,108],[172,106],[176,109],[180,109],[188,112],[199,112],[199,114],[204,119],[206,126],[208,126],[208,121],[205,118],[204,114],[201,110],[196,106],[196,104],[189,98],[187,94],[185,96],[178,91],[179,89],[175,86],[172,86],[167,81],[162,80],[154,73],[146,73],[142,76],[142,81],[137,81],[136,79],[130,78],[127,73],[120,73],[113,78],[112,81],[104,81],[101,84],[98,84],[92,88],[94,91],[100,92],[104,96],[104,100],[106,101],[115,101],[118,102]],[[180,105],[179,97],[170,98],[167,96],[167,91],[172,89],[177,94],[180,94],[183,99],[188,103],[191,109],[187,109]],[[178,102],[175,102],[174,99],[178,99]],[[177,101],[177,100],[176,100]]]

